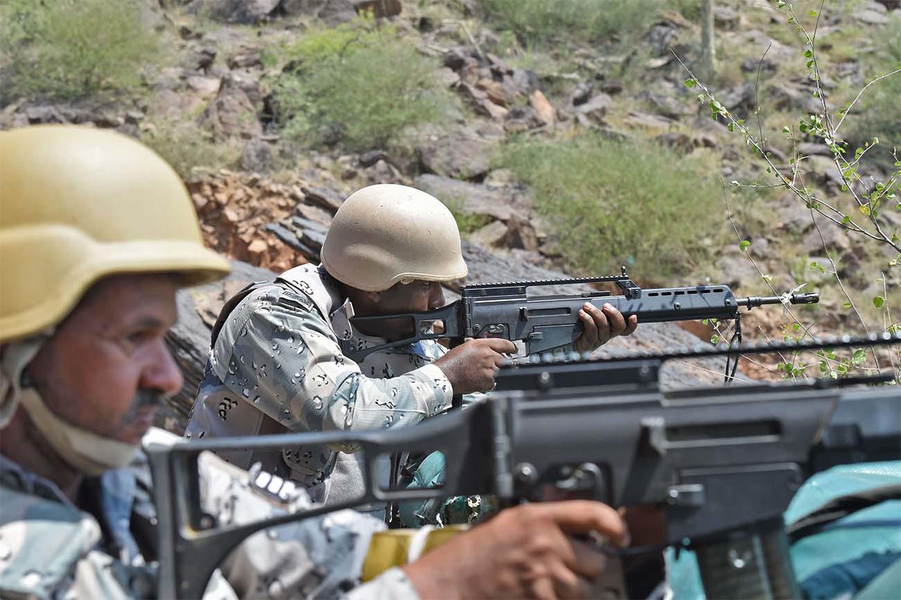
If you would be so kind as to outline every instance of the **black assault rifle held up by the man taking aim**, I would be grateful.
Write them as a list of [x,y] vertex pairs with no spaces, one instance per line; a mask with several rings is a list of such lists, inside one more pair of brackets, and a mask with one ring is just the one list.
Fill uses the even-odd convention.
[[[529,293],[542,286],[597,282],[615,283],[623,294],[612,296],[609,291],[553,295]],[[378,346],[345,347],[342,350],[352,360],[359,361],[377,350],[411,344],[421,339],[449,338],[451,345],[456,345],[466,337],[503,337],[523,341],[526,354],[540,354],[576,341],[583,329],[578,311],[586,302],[598,308],[605,303],[612,304],[625,318],[637,315],[639,323],[735,319],[738,334],[735,341],[741,341],[742,307],[752,309],[764,304],[813,304],[819,301],[817,293],[736,298],[727,285],[642,290],[626,275],[623,267],[620,275],[608,277],[467,285],[460,289],[460,300],[441,309],[354,317],[350,322],[355,325],[379,322],[396,325],[405,322],[405,330],[414,332],[414,335]],[[435,323],[441,325],[439,331],[432,331]]]

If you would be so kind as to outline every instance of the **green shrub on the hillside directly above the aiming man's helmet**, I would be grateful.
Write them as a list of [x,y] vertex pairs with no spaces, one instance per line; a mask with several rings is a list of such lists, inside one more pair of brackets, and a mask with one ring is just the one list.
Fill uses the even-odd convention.
[[438,65],[370,19],[309,32],[284,60],[299,66],[275,82],[275,116],[287,137],[303,143],[369,149],[405,126],[440,120],[453,103]]

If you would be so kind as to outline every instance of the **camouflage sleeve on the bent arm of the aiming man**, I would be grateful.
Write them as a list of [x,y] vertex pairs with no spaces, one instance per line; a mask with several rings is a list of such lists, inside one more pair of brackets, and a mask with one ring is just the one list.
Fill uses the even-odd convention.
[[435,365],[386,379],[361,374],[313,302],[278,285],[255,291],[232,312],[214,364],[232,392],[294,430],[413,424],[447,409],[453,395]]

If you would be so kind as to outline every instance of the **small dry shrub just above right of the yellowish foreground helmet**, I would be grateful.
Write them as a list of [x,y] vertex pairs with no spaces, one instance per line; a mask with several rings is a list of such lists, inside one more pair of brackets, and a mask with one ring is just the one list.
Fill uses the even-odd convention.
[[162,156],[183,180],[195,180],[202,171],[233,166],[241,149],[232,142],[216,140],[211,131],[196,121],[159,123],[141,134],[141,142]]

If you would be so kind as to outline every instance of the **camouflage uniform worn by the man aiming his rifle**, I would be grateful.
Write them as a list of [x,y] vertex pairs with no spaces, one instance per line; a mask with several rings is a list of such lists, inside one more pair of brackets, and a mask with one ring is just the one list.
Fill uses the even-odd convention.
[[[444,353],[439,344],[423,340],[389,348],[357,364],[344,353],[385,340],[353,330],[352,316],[350,300],[322,267],[301,265],[275,282],[245,288],[232,306],[226,305],[217,324],[221,329],[186,436],[413,425],[451,406],[451,383],[431,365]],[[265,470],[304,485],[314,501],[327,504],[363,491],[353,450],[235,448],[221,456],[243,468],[259,461]],[[379,467],[380,483],[386,485],[387,457]],[[369,508],[377,516],[384,510],[383,505]],[[462,522],[468,520],[464,514]]]

